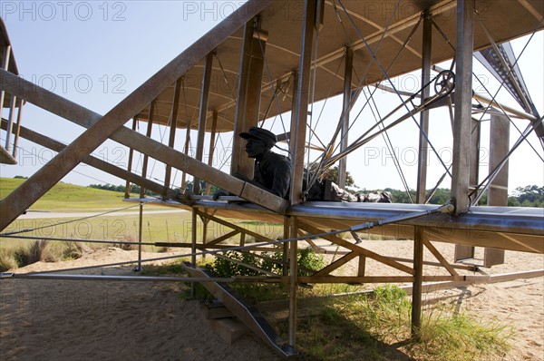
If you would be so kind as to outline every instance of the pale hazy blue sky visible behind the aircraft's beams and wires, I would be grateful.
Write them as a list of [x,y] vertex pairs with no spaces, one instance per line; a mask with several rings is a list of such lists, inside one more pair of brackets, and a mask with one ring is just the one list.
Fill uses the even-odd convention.
[[[13,44],[19,73],[24,79],[77,102],[93,112],[103,114],[241,4],[242,1],[2,1],[0,11]],[[524,37],[513,42],[516,54],[519,54],[527,41],[528,37]],[[521,71],[540,114],[544,113],[543,49],[544,38],[542,32],[539,32],[520,58]],[[482,74],[490,87],[493,85],[496,87],[491,75],[486,75],[476,61],[475,73]],[[406,79],[409,78],[403,78],[404,81]],[[409,82],[398,82],[401,83],[404,83],[405,87],[410,86]],[[364,100],[364,97],[361,99]],[[500,99],[510,106],[519,108],[508,96],[501,96]],[[387,109],[398,103],[398,98],[381,92],[376,101],[383,116]],[[320,112],[321,105],[316,104],[314,114]],[[361,106],[362,102],[355,106],[354,118]],[[340,112],[340,100],[327,102],[322,115],[326,122],[320,121],[317,130],[325,141],[328,141],[326,137],[335,126]],[[5,111],[3,115],[6,117],[7,112]],[[352,131],[355,134],[363,132],[364,127],[374,122],[370,110],[366,110],[361,117],[365,119],[366,125],[357,123]],[[289,122],[288,115],[283,118],[284,122]],[[281,130],[280,121],[278,118],[274,122],[275,132]],[[272,122],[267,122],[265,127],[271,127]],[[83,132],[83,128],[72,122],[59,119],[31,104],[24,107],[23,124],[64,143],[73,141]],[[527,122],[520,121],[518,126],[524,129]],[[485,137],[489,137],[486,135],[486,127],[489,128],[489,122],[483,126],[482,171],[487,170],[486,151],[489,150],[489,141],[487,144],[485,141]],[[143,124],[141,132],[145,132]],[[417,132],[412,121],[390,132],[393,147],[412,188],[415,188],[416,183],[417,166],[413,157],[417,149]],[[155,133],[160,140],[161,136],[164,137],[165,131]],[[5,132],[1,134],[4,144]],[[510,135],[512,144],[519,133],[512,128]],[[231,136],[231,133],[222,135],[219,146],[228,147]],[[183,132],[180,132],[179,146],[183,137]],[[447,164],[451,162],[451,157],[448,156],[451,154],[451,137],[448,112],[445,110],[432,112],[430,138]],[[355,136],[351,139],[355,139]],[[530,141],[543,157],[542,148],[534,134],[531,134]],[[28,141],[22,140],[20,146],[22,149],[19,151],[19,164],[2,165],[0,167],[2,177],[30,176],[53,157],[51,151]],[[107,141],[93,154],[106,161],[126,164],[128,151],[115,142]],[[137,155],[136,161],[140,162],[141,157]],[[151,164],[151,167],[153,169],[151,176],[161,179],[163,166]],[[442,165],[433,155],[430,157],[430,167],[429,188],[444,172]],[[382,139],[376,139],[368,147],[351,155],[348,158],[348,171],[361,188],[403,187],[390,151]],[[77,167],[64,181],[82,185],[123,182],[84,165]],[[173,181],[175,183],[180,181],[179,173],[175,173]],[[446,178],[442,187],[449,188],[450,182],[451,180]],[[530,149],[529,145],[523,144],[510,161],[510,190],[528,184],[540,186],[544,184],[544,166],[535,151]]]

